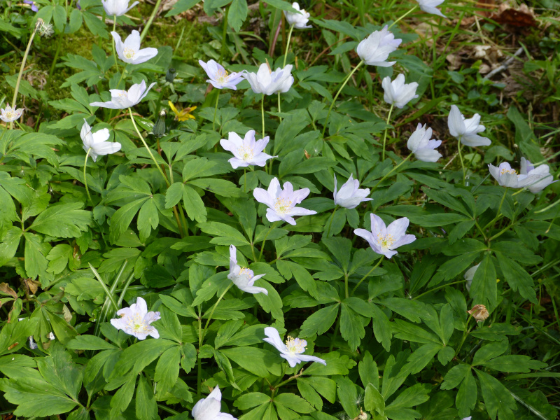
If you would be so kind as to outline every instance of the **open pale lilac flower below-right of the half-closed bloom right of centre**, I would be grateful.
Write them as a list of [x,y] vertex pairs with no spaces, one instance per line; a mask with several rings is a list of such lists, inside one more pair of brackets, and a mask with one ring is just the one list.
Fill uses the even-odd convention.
[[387,227],[384,221],[375,214],[371,214],[372,231],[356,229],[354,233],[363,237],[375,253],[391,258],[397,253],[399,246],[407,245],[416,240],[414,235],[405,235],[409,220],[406,217],[395,220]]

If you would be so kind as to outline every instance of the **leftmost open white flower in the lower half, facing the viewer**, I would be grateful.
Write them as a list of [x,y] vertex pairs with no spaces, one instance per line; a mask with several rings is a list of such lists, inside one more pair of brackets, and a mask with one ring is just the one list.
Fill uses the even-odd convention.
[[117,330],[123,330],[127,334],[134,335],[137,339],[145,339],[148,335],[160,338],[160,333],[151,323],[161,318],[159,312],[148,312],[146,300],[138,297],[136,303],[128,308],[119,309],[117,315],[120,318],[111,319],[111,325]]

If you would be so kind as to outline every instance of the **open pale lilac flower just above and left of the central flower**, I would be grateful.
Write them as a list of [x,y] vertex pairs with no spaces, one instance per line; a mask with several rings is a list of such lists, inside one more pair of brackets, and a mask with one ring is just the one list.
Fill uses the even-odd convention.
[[241,139],[235,132],[228,134],[228,140],[221,139],[220,144],[226,151],[233,153],[233,158],[228,160],[232,164],[233,169],[238,167],[248,167],[249,165],[257,165],[263,167],[270,158],[278,158],[263,153],[268,144],[268,136],[259,141],[255,141],[255,130],[249,130],[245,134],[245,138]]

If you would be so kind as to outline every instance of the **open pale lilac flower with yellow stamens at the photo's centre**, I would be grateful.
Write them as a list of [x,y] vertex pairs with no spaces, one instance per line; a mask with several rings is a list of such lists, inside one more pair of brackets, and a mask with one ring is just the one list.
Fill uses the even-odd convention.
[[290,182],[285,182],[284,188],[280,188],[280,181],[277,178],[270,181],[268,190],[263,188],[255,188],[253,190],[255,200],[269,207],[267,209],[267,219],[269,222],[285,221],[294,226],[295,220],[292,216],[307,216],[317,213],[314,210],[295,207],[296,204],[300,204],[308,195],[309,188],[294,191]]

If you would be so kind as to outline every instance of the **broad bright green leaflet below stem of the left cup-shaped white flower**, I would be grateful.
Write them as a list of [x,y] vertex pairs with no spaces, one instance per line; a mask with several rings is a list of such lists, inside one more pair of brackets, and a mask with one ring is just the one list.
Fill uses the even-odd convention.
[[92,223],[92,212],[83,203],[55,204],[39,214],[29,229],[57,238],[79,237]]

